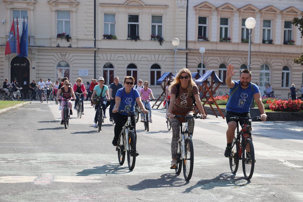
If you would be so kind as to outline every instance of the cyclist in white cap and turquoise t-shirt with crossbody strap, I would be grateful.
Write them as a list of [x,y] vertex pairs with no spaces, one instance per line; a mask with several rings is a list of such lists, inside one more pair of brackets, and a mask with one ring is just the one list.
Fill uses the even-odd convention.
[[[103,77],[100,77],[99,78],[99,85],[96,85],[94,87],[94,91],[93,91],[93,94],[92,94],[92,97],[91,97],[91,100],[94,99],[94,96],[97,94],[98,97],[100,97],[101,99],[107,99],[107,101],[110,101],[109,99],[109,95],[108,95],[108,87],[106,85],[103,85],[104,84],[104,78]],[[102,91],[102,88],[103,91]],[[101,94],[102,92],[102,94]],[[95,110],[96,110],[96,114],[95,114],[95,120],[94,120],[94,128],[97,128],[97,121],[98,121],[98,106],[96,104],[95,106]],[[103,110],[103,117],[104,118],[107,118],[106,115],[105,115],[105,110],[106,110],[106,102],[102,102],[102,110]]]

